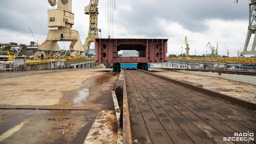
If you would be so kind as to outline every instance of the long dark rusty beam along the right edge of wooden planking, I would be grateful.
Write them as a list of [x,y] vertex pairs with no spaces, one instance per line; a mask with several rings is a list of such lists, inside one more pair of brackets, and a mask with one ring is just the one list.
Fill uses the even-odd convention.
[[181,82],[181,81],[178,81],[178,80],[173,80],[171,78],[168,78],[167,76],[163,76],[163,75],[160,75],[160,74],[154,74],[152,72],[148,72],[148,71],[145,71],[145,70],[140,70],[140,71],[145,72],[147,74],[150,74],[152,76],[156,76],[158,78],[162,78],[162,79],[167,80],[169,82],[173,82],[175,84],[180,84],[180,85],[185,86],[186,88],[190,88],[192,90],[198,90],[200,92],[208,94],[209,96],[212,96],[212,97],[215,97],[215,98],[220,98],[220,99],[225,100],[227,102],[231,102],[232,104],[236,104],[238,106],[242,106],[242,107],[248,108],[250,110],[256,110],[256,104],[254,104],[252,102],[244,101],[244,100],[232,97],[232,96],[228,96],[226,94],[221,94],[221,93],[218,93],[218,92],[207,90],[207,89],[202,88],[202,87],[197,86],[197,85],[192,85],[192,84],[188,84],[186,82]]

